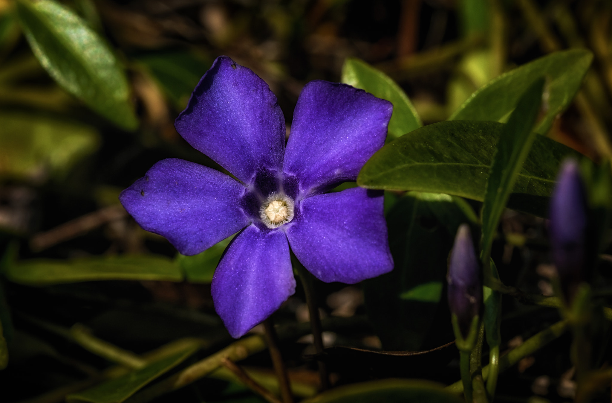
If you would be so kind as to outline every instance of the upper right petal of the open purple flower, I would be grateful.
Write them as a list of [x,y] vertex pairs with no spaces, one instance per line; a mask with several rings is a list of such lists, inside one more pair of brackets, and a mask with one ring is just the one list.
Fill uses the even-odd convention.
[[297,100],[283,171],[299,178],[305,195],[355,181],[384,145],[392,110],[362,89],[310,81]]

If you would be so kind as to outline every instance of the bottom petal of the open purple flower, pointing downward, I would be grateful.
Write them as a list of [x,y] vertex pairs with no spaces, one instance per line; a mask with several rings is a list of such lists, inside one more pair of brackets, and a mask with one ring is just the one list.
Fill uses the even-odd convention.
[[215,311],[236,338],[272,315],[295,291],[285,233],[255,225],[225,250],[211,284]]

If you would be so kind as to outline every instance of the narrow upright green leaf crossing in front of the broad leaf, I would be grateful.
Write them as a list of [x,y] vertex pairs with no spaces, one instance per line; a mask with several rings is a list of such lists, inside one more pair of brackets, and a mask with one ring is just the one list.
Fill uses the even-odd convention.
[[499,218],[537,135],[532,128],[540,110],[543,88],[543,78],[529,86],[499,135],[482,205],[481,247],[487,262]]

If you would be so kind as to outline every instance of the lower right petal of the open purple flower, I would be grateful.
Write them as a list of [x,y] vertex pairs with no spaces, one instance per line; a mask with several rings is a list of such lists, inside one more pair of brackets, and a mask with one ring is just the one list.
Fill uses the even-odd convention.
[[291,250],[324,282],[354,284],[393,269],[383,194],[361,187],[300,201],[287,224]]

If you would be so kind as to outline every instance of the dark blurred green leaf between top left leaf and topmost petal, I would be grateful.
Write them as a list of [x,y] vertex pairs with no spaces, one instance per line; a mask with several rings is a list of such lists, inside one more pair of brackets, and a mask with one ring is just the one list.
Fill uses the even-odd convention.
[[183,109],[193,88],[211,67],[212,61],[189,51],[165,51],[139,56],[170,98],[174,106]]

